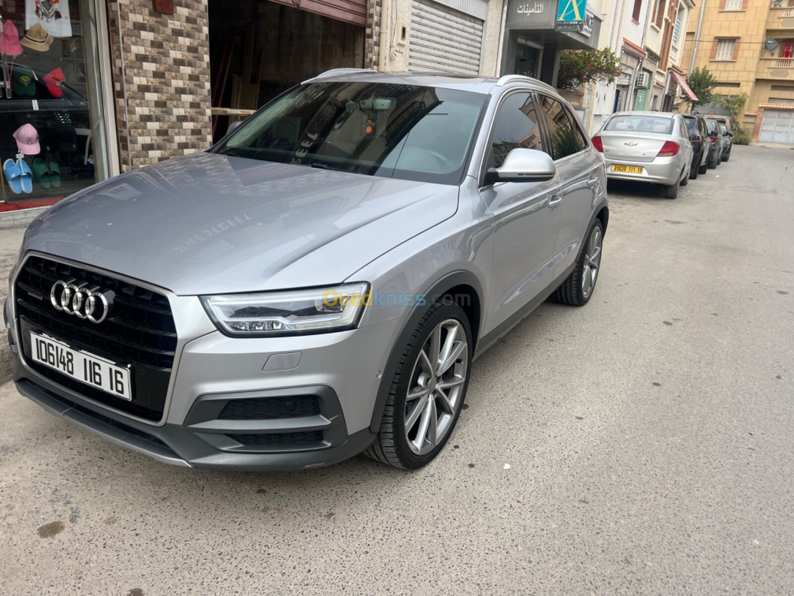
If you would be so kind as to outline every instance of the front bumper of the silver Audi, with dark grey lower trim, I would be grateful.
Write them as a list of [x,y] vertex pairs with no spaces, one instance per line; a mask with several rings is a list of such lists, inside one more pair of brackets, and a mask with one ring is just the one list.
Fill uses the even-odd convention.
[[[159,424],[127,416],[42,377],[25,366],[16,334],[9,339],[20,393],[112,443],[177,466],[295,470],[348,459],[375,439],[370,425],[376,394],[401,323],[395,319],[352,331],[285,338],[229,338],[218,331],[200,335],[183,343],[168,410]],[[262,412],[246,410],[251,404],[288,406],[301,400],[312,401],[315,409],[293,417],[282,408],[264,418]]]

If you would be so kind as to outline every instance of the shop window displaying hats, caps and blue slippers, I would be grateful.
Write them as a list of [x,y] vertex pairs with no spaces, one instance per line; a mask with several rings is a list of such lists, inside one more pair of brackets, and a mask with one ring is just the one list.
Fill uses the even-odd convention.
[[52,203],[118,172],[104,2],[0,2],[3,203]]

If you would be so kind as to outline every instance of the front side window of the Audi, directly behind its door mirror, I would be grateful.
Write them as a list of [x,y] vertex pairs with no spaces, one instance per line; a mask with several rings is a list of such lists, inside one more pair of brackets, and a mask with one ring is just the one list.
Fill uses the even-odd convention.
[[491,135],[488,167],[499,168],[507,153],[517,147],[543,150],[538,114],[529,93],[514,93],[499,108]]

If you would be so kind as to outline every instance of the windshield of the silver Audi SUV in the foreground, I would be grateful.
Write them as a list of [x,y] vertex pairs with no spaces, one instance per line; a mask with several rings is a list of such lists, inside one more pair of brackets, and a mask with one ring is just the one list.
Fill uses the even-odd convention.
[[282,164],[457,184],[486,95],[384,83],[309,83],[215,150]]

